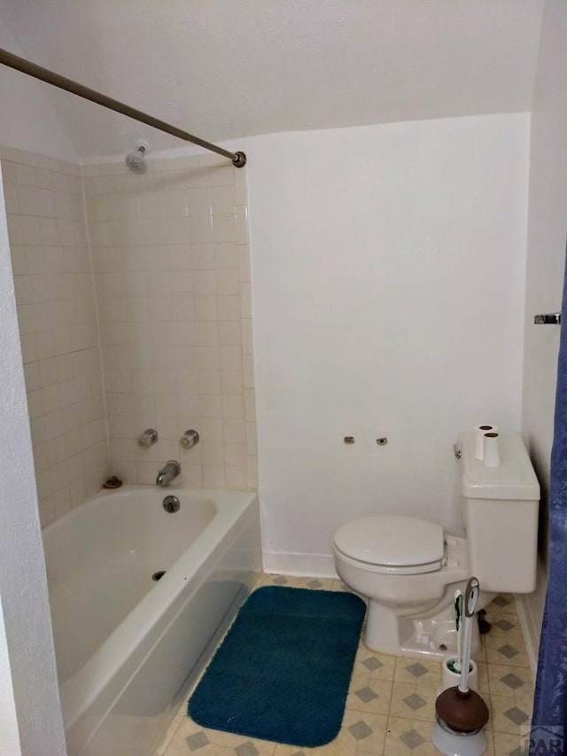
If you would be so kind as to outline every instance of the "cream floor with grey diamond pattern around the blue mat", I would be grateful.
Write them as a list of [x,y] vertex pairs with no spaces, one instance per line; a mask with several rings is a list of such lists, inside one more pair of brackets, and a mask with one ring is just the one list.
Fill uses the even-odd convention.
[[[345,590],[340,581],[262,575],[258,585]],[[477,655],[479,692],[490,708],[487,756],[522,756],[521,734],[532,713],[532,672],[512,596],[487,607],[493,628]],[[185,713],[175,717],[155,756],[425,756],[431,744],[438,661],[405,659],[369,651],[361,642],[346,699],[342,729],[321,748],[291,745],[203,729]]]

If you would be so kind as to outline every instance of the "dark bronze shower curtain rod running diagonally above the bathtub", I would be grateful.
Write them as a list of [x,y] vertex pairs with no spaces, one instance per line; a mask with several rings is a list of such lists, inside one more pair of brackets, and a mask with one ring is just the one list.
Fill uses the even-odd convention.
[[115,113],[121,113],[127,115],[128,118],[134,118],[136,121],[151,126],[153,129],[159,129],[159,131],[165,131],[167,134],[177,136],[179,139],[183,139],[185,142],[191,142],[192,144],[198,144],[199,147],[205,147],[206,150],[216,152],[218,155],[222,155],[225,158],[232,160],[233,165],[236,168],[243,168],[246,164],[246,156],[244,152],[229,152],[223,150],[222,147],[216,144],[206,142],[205,139],[200,139],[198,136],[190,134],[188,131],[177,129],[166,121],[159,121],[158,118],[154,118],[152,115],[142,113],[141,110],[136,110],[134,107],[124,105],[120,100],[115,100],[113,97],[106,97],[106,95],[91,90],[89,87],[83,86],[78,82],[74,82],[73,79],[67,79],[65,76],[60,76],[42,66],[37,66],[26,58],[19,58],[18,55],[14,55],[12,52],[2,50],[0,48],[0,63],[10,68],[15,68],[16,71],[21,71],[22,74],[33,76],[35,79],[39,79],[41,82],[47,82],[54,87],[58,87],[60,90],[66,90],[74,95],[83,97],[83,99],[90,100],[97,105],[107,107],[109,110],[113,110]]

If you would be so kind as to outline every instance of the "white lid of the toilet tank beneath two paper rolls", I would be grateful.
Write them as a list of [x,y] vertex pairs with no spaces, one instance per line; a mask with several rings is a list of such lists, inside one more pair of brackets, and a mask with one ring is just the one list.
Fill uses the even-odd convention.
[[474,431],[460,433],[462,495],[467,499],[539,501],[540,484],[533,472],[521,433],[501,431],[500,467],[486,467],[475,458]]

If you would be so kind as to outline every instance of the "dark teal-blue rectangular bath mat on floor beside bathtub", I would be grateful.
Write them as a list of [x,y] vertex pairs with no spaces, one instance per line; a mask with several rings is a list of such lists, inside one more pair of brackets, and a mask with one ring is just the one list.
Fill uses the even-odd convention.
[[314,748],[337,737],[364,620],[352,593],[258,588],[190,698],[206,728]]

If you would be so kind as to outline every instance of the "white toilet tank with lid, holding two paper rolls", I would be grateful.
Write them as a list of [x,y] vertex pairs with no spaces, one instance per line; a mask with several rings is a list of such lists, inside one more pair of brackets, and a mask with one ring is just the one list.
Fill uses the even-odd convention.
[[540,484],[521,434],[501,432],[499,443],[500,467],[486,467],[475,458],[474,431],[457,440],[470,573],[484,590],[532,593]]

